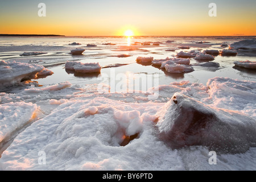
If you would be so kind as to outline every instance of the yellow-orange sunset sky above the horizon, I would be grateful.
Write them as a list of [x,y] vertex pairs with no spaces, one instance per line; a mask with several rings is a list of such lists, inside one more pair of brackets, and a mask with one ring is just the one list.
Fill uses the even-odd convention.
[[[40,1],[6,1],[0,6],[0,34],[123,35],[256,35],[256,1],[49,1],[46,17]],[[75,3],[77,2],[77,3]],[[126,3],[125,3],[126,2]]]

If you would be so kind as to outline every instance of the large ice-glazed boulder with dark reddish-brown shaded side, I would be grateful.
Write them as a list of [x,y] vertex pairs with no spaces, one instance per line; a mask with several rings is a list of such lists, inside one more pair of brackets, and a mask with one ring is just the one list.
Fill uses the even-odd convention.
[[174,94],[159,117],[160,135],[175,148],[200,145],[235,154],[256,146],[255,119],[205,105],[181,93]]

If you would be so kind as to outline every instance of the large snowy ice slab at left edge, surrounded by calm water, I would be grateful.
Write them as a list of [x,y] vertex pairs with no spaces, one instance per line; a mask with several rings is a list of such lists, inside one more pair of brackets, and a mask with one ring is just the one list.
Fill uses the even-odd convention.
[[52,75],[52,73],[42,65],[0,61],[0,85],[2,86],[11,86],[22,80],[31,80],[42,75]]

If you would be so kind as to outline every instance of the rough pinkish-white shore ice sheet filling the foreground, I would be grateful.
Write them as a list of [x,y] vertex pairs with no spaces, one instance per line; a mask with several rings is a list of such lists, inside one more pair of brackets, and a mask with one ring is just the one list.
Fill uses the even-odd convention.
[[[149,102],[148,94],[156,89],[159,102]],[[207,86],[172,82],[138,96],[102,94],[97,92],[97,86],[81,88],[66,82],[42,88],[31,86],[22,93],[0,96],[2,105],[26,100],[47,114],[19,133],[3,152],[0,159],[3,170],[254,170],[256,167],[253,147],[256,82],[253,81],[215,77]],[[202,122],[199,118],[203,118]],[[17,117],[16,122],[20,119]],[[179,143],[172,139],[174,131]],[[134,134],[138,137],[126,146],[120,145],[125,137]],[[180,148],[183,144],[191,146]],[[208,163],[211,149],[217,151],[217,165]],[[39,160],[40,152],[46,154],[44,165]]]

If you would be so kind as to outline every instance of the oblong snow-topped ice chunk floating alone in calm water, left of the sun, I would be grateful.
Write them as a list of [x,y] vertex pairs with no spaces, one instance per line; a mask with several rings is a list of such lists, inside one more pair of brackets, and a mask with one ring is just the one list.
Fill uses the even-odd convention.
[[101,66],[98,63],[81,63],[76,61],[67,61],[65,69],[77,73],[99,73]]

